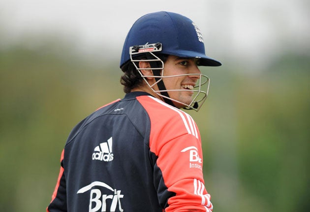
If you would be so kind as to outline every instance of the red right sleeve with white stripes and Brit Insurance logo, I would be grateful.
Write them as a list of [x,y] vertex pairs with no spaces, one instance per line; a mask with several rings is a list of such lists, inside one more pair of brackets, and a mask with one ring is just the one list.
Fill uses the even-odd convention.
[[158,156],[156,163],[168,191],[176,194],[168,199],[165,212],[211,212],[211,197],[202,173],[201,138],[195,122],[184,111],[152,100],[153,103],[142,102],[151,119],[150,149]]

